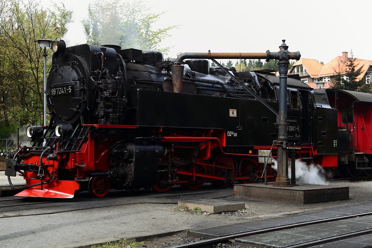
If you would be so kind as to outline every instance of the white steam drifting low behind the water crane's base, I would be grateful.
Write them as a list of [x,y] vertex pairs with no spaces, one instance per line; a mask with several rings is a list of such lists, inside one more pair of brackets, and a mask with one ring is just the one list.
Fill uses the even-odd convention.
[[[278,162],[273,159],[275,165],[272,168],[277,170]],[[291,178],[291,161],[288,161],[288,175]],[[328,185],[325,181],[325,171],[322,167],[311,164],[307,165],[303,161],[296,159],[296,183],[310,183],[310,184],[323,184]]]

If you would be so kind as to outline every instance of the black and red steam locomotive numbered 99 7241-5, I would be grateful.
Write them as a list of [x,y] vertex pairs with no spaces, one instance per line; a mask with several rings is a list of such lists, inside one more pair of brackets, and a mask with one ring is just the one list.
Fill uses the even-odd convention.
[[[235,180],[275,181],[279,77],[270,70],[237,72],[207,59],[180,61],[180,74],[157,51],[115,45],[52,44],[47,82],[48,126],[28,126],[6,175],[20,173],[17,196],[71,198],[88,190],[174,184],[198,189]],[[172,79],[182,75],[181,85]],[[248,90],[247,90],[248,89]],[[258,100],[257,100],[258,99]],[[336,168],[337,110],[325,92],[288,78],[288,142],[296,157]]]

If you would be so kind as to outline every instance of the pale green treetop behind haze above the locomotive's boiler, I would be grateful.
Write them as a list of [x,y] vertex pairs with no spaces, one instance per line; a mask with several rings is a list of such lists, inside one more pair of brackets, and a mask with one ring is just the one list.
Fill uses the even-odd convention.
[[167,54],[171,47],[161,48],[160,42],[169,37],[168,31],[177,26],[152,29],[165,13],[149,13],[146,1],[133,3],[120,1],[95,1],[89,5],[89,20],[86,31],[88,43],[95,45],[113,44],[122,48],[156,50]]

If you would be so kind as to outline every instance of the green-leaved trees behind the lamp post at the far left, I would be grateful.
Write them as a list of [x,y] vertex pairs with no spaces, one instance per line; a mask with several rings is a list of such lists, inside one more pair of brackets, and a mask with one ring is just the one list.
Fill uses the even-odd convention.
[[[32,1],[0,0],[1,137],[9,136],[18,125],[42,124],[44,58],[34,40],[64,34],[69,13],[63,4],[55,9]],[[50,67],[49,49],[47,54]]]

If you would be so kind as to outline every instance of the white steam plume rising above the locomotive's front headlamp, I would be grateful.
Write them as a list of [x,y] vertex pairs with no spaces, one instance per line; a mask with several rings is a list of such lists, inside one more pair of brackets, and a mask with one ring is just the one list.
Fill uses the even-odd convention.
[[87,43],[84,22],[89,18],[88,6],[90,1],[65,1],[71,6],[71,22],[66,24],[67,32],[62,37],[66,46],[76,46]]

